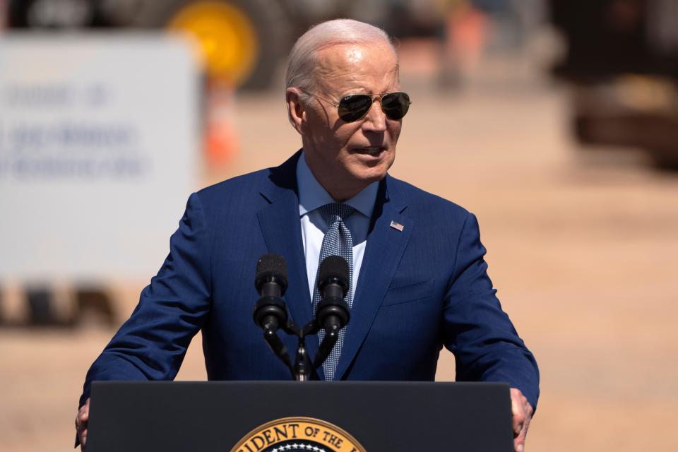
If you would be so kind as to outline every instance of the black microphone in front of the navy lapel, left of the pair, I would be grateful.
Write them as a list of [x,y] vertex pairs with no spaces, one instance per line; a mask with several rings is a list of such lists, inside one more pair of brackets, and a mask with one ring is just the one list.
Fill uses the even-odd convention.
[[260,298],[254,304],[254,323],[263,329],[263,338],[270,350],[290,367],[290,355],[278,337],[280,326],[287,325],[287,309],[281,297],[287,290],[287,264],[279,254],[264,254],[256,263],[254,286]]

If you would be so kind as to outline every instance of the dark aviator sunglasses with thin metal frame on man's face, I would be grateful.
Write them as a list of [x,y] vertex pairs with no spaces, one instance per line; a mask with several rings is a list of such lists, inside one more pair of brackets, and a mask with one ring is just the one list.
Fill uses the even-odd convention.
[[317,94],[310,93],[303,88],[300,88],[304,93],[310,94],[314,97],[318,97],[320,100],[324,100],[329,105],[337,107],[337,112],[342,121],[345,122],[355,122],[359,119],[363,119],[369,109],[372,107],[374,99],[379,99],[381,103],[381,109],[384,114],[391,119],[401,119],[407,114],[408,109],[410,109],[410,96],[407,93],[386,93],[386,94],[350,94],[339,101],[339,103],[333,102],[325,97],[320,97]]

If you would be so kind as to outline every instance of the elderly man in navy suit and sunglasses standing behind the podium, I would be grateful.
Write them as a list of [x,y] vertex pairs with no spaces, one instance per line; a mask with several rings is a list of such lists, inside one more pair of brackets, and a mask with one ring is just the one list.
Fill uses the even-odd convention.
[[494,295],[475,217],[387,174],[410,106],[388,36],[355,20],[316,25],[292,49],[285,95],[302,150],[191,195],[160,272],[88,371],[81,442],[92,381],[173,379],[198,330],[210,380],[289,379],[251,321],[254,263],[273,252],[300,324],[319,300],[320,258],[347,256],[352,319],[317,378],[433,380],[444,346],[458,380],[511,384],[522,451],[537,365]]

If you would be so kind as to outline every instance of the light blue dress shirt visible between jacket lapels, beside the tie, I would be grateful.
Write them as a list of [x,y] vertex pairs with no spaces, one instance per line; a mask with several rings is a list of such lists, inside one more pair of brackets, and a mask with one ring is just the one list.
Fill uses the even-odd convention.
[[[323,186],[313,175],[303,153],[299,157],[299,162],[297,162],[297,188],[299,189],[299,219],[302,222],[302,242],[304,243],[304,256],[306,257],[306,274],[309,277],[309,293],[312,300],[316,275],[318,273],[320,249],[328,228],[318,208],[336,201],[323,189]],[[378,189],[379,182],[373,182],[360,191],[359,194],[345,201],[345,204],[352,206],[356,210],[345,221],[345,225],[350,230],[353,239],[353,302],[355,302],[355,287],[357,287],[358,276],[360,275],[362,256],[365,253],[365,245],[367,244],[369,220],[372,217]]]

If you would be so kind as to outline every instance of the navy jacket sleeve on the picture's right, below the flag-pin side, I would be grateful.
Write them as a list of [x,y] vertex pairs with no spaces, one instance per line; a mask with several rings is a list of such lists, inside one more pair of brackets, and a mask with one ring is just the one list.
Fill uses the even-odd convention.
[[458,241],[444,307],[444,341],[455,355],[456,379],[509,383],[536,409],[537,362],[501,310],[487,275],[475,215],[467,214]]

